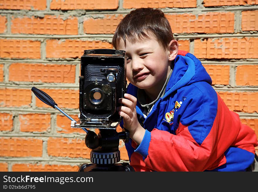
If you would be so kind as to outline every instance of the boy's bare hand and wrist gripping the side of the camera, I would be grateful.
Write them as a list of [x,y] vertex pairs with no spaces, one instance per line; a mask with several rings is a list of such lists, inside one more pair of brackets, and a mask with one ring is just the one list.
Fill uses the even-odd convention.
[[140,125],[137,119],[137,99],[130,94],[125,94],[124,97],[125,98],[119,99],[119,103],[124,106],[120,106],[116,110],[118,111],[118,114],[123,117],[124,128],[129,131],[130,138],[139,145],[142,142],[145,129]]

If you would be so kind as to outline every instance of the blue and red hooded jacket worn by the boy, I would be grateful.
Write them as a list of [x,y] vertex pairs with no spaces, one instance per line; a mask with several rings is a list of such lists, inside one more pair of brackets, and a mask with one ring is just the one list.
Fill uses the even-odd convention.
[[[125,143],[130,165],[135,171],[245,171],[254,161],[257,136],[215,92],[201,61],[180,54],[164,96],[147,117],[137,102],[145,135],[138,146],[132,139]],[[127,87],[136,98],[137,90]]]

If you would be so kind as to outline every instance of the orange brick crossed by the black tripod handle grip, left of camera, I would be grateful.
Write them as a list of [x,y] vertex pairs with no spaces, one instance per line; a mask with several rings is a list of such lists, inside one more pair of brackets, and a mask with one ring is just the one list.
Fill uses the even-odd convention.
[[[41,89],[54,99],[60,108],[79,108],[79,90],[73,89]],[[0,105],[1,106],[1,105]],[[36,98],[37,107],[50,107]],[[61,112],[60,112],[61,113]]]

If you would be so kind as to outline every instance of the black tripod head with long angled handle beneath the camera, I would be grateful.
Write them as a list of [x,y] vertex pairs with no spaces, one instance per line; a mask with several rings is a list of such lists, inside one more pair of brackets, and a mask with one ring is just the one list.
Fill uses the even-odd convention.
[[[67,115],[62,109],[57,106],[57,103],[44,91],[32,87],[31,91],[38,97],[42,102],[47,105],[59,110],[66,117],[72,120],[72,123],[76,121]],[[123,130],[118,133],[114,129],[99,129],[99,134],[82,128],[87,134],[85,136],[85,144],[91,150],[91,163],[83,163],[78,172],[89,172],[89,171],[134,171],[133,167],[129,163],[120,161],[120,151],[118,149],[119,139],[123,139],[126,143],[129,140],[129,132]]]

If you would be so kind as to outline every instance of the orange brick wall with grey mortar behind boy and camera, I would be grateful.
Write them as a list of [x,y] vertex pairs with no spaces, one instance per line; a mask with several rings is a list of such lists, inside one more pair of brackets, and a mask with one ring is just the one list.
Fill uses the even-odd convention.
[[[164,11],[179,48],[202,60],[214,89],[258,136],[257,0],[0,0],[0,171],[90,163],[85,132],[30,89],[77,120],[83,50],[112,49],[116,25],[140,7]],[[123,141],[120,151],[128,162]]]

